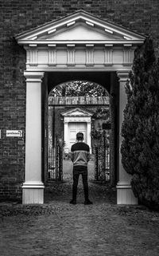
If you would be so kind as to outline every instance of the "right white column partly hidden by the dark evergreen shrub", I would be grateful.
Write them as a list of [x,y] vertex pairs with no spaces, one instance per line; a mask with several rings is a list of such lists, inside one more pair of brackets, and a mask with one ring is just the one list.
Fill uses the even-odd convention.
[[122,155],[120,152],[122,144],[121,128],[123,121],[123,110],[126,107],[126,92],[125,86],[128,79],[128,72],[118,72],[119,77],[119,180],[117,184],[117,204],[138,204],[138,199],[135,198],[131,189],[129,175],[122,166]]

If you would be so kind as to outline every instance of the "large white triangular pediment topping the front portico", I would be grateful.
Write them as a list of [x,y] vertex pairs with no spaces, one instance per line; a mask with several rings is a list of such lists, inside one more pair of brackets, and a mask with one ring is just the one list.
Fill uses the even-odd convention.
[[83,10],[17,35],[19,44],[140,43],[145,37]]

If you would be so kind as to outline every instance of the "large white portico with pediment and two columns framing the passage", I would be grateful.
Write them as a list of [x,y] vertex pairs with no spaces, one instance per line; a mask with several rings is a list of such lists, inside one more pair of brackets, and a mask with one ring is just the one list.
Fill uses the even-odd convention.
[[[25,183],[23,203],[43,203],[41,104],[49,91],[50,79],[56,83],[64,76],[87,76],[102,85],[111,77],[111,89],[118,77],[118,198],[119,204],[136,204],[130,186],[130,175],[122,167],[120,135],[123,109],[126,105],[125,83],[134,58],[134,49],[145,40],[140,34],[78,11],[55,22],[49,22],[17,35],[19,45],[26,50],[26,128]],[[53,73],[53,76],[50,75]],[[59,73],[59,76],[58,76]],[[111,76],[115,73],[115,76]],[[47,76],[48,75],[48,76]],[[72,78],[71,78],[72,79]],[[82,79],[82,77],[80,77]],[[68,79],[70,80],[70,79]],[[87,80],[90,80],[87,77]],[[92,81],[92,79],[91,79]],[[41,101],[41,95],[42,101]],[[44,129],[43,129],[44,131]],[[44,132],[45,133],[45,132]]]

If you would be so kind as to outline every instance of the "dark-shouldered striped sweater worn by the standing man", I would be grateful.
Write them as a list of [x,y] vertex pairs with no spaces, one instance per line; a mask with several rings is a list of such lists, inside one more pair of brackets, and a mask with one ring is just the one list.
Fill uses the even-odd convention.
[[83,142],[77,142],[72,145],[72,162],[73,166],[87,166],[87,162],[90,160],[90,149],[89,146]]

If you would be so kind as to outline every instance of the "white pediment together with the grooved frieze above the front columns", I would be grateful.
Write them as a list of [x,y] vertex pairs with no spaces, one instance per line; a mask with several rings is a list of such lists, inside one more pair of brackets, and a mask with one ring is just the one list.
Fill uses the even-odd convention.
[[131,66],[139,33],[80,10],[16,37],[24,45],[26,69],[122,69]]

